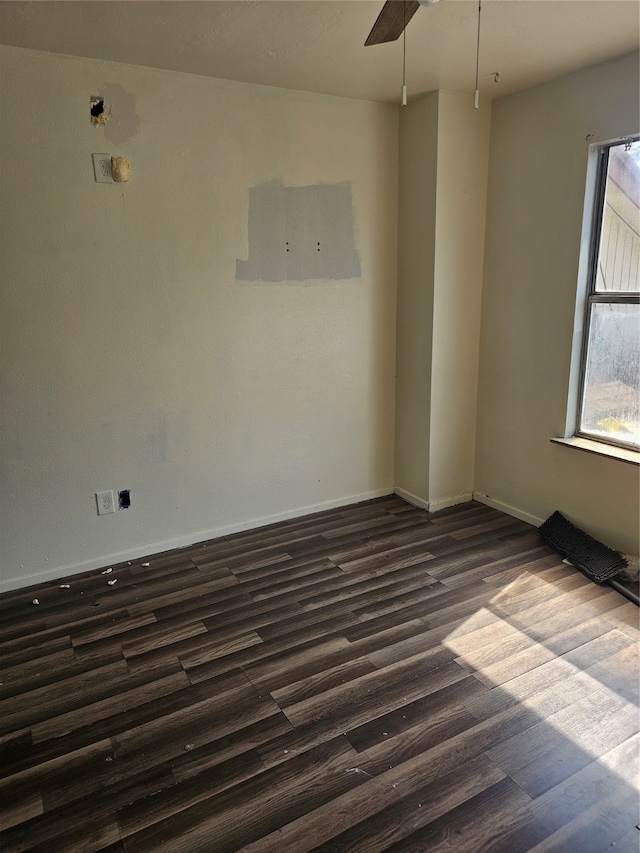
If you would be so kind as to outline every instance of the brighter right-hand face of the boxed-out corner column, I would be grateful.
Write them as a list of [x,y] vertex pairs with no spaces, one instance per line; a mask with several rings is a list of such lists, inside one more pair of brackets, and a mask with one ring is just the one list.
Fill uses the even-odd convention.
[[429,506],[470,500],[491,103],[440,92]]

